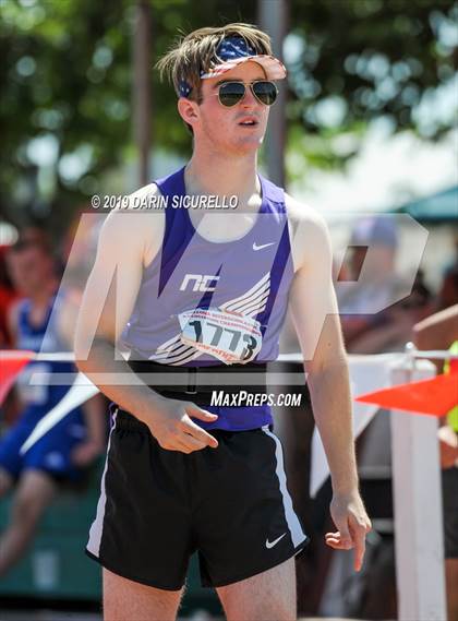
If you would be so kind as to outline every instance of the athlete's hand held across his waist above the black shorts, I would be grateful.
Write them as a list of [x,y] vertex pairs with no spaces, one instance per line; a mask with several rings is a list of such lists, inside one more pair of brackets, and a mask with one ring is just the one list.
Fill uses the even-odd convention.
[[192,402],[159,397],[150,415],[143,419],[159,445],[167,451],[192,453],[206,446],[216,449],[218,441],[192,418],[214,422],[218,416]]

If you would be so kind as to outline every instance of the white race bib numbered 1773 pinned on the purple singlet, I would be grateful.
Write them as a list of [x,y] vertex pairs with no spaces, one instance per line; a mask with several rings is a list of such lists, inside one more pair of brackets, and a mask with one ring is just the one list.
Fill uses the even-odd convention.
[[250,362],[263,344],[261,324],[250,317],[210,307],[184,311],[178,318],[183,343],[226,365]]

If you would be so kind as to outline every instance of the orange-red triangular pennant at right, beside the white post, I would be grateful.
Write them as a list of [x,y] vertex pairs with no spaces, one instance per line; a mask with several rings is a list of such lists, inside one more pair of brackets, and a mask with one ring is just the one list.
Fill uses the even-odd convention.
[[458,404],[458,375],[447,373],[430,380],[399,384],[355,397],[389,409],[403,409],[414,414],[445,416]]

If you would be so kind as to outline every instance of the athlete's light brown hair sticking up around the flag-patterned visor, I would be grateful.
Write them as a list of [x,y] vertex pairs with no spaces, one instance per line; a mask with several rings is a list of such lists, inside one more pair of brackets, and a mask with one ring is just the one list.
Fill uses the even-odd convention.
[[180,82],[185,81],[192,87],[189,98],[201,104],[201,72],[207,73],[221,62],[216,49],[224,38],[232,36],[242,37],[256,53],[272,56],[270,37],[252,24],[233,23],[215,28],[198,28],[179,39],[177,45],[156,63],[160,79],[164,80],[167,75],[178,96]]

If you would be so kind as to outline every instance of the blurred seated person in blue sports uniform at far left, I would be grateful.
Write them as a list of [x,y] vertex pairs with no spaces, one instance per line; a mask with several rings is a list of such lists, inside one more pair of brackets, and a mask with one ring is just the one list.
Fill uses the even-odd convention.
[[[19,241],[8,254],[14,286],[25,297],[12,307],[9,325],[19,349],[56,353],[69,349],[62,342],[53,309],[58,309],[58,278],[49,248],[41,241]],[[71,329],[70,329],[71,331]],[[21,557],[29,544],[45,509],[68,481],[77,481],[82,467],[105,450],[104,414],[92,399],[55,425],[24,455],[20,449],[36,423],[65,395],[68,385],[31,383],[53,373],[73,373],[71,362],[36,361],[19,378],[23,411],[0,440],[0,498],[15,487],[11,521],[0,536],[0,575]]]

